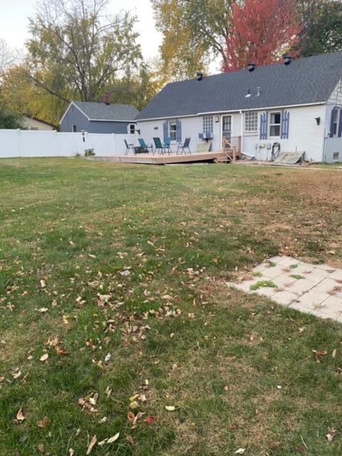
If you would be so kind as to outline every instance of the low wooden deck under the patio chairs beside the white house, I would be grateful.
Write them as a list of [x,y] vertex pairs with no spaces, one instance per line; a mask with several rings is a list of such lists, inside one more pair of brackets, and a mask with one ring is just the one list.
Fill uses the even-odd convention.
[[115,157],[88,157],[89,160],[100,162],[114,163],[137,163],[140,165],[172,165],[177,163],[194,163],[194,162],[224,162],[227,160],[227,155],[224,152],[200,152],[187,155],[152,155],[152,154],[137,154],[137,155],[120,155]]

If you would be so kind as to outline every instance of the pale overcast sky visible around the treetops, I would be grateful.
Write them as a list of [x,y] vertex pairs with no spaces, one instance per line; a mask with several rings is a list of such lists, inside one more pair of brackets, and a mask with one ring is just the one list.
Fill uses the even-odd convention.
[[[0,0],[0,38],[4,38],[9,46],[24,47],[28,38],[27,18],[34,15],[35,4],[36,0]],[[150,0],[110,0],[108,9],[111,13],[128,10],[138,16],[137,30],[142,54],[145,58],[157,55],[162,38],[155,30]]]

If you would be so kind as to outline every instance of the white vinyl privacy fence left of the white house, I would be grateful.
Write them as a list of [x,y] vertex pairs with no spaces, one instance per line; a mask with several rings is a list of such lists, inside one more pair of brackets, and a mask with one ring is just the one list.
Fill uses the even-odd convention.
[[125,154],[125,142],[137,145],[135,135],[99,133],[58,133],[42,130],[0,130],[0,158],[73,157],[93,149],[95,155]]

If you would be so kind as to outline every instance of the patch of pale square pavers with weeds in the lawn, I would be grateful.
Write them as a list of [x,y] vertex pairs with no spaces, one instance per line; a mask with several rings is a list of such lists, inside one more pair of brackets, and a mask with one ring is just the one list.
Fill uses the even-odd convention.
[[250,294],[261,294],[291,309],[342,323],[342,269],[273,257],[255,266],[253,279],[227,282]]

